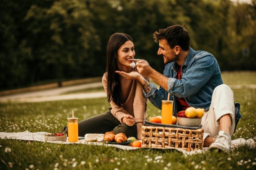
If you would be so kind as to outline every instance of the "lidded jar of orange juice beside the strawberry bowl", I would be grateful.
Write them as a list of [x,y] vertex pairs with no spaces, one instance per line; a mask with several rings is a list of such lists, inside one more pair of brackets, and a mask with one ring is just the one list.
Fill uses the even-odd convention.
[[69,142],[78,142],[78,118],[68,118]]

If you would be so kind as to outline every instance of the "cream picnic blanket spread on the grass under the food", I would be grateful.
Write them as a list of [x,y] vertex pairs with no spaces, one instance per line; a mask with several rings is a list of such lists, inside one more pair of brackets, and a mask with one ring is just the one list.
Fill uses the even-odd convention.
[[[13,133],[7,133],[7,132],[0,132],[0,139],[15,139],[15,140],[25,140],[25,141],[38,141],[38,142],[45,142],[45,134],[48,132],[29,132],[29,131],[24,131],[24,132],[13,132]],[[61,142],[61,141],[47,141],[49,143],[57,143],[57,144],[86,144],[86,145],[103,145],[106,147],[116,147],[119,149],[123,150],[135,150],[135,149],[140,149],[137,147],[132,147],[132,146],[127,146],[127,145],[117,145],[117,144],[107,144],[104,142],[87,142],[85,140],[79,140],[78,142]],[[163,148],[165,149],[165,148]],[[177,149],[176,150],[182,152],[184,155],[192,155],[196,153],[204,153],[205,151],[208,150],[208,148],[203,148],[203,150],[196,150],[196,151],[184,151],[182,149]]]

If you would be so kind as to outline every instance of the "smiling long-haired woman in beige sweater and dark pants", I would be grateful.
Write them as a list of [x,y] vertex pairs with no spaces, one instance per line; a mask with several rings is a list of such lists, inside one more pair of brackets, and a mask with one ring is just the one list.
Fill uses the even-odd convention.
[[[142,85],[137,80],[127,80],[118,72],[138,74],[137,68],[130,66],[145,60],[134,59],[135,51],[133,39],[124,33],[115,33],[109,38],[107,47],[107,69],[102,77],[102,83],[111,108],[103,114],[78,122],[78,135],[86,133],[105,133],[113,131],[115,134],[124,133],[126,137],[141,139],[141,128],[147,119],[147,99]],[[149,81],[149,77],[144,77]],[[135,121],[138,122],[135,123]],[[61,131],[68,133],[68,127]]]

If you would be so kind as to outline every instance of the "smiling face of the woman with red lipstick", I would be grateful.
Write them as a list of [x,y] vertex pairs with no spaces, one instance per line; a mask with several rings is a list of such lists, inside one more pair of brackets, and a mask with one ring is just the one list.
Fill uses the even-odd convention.
[[130,64],[133,62],[135,55],[134,45],[131,40],[126,41],[117,51],[117,67],[122,71],[129,71],[132,67]]

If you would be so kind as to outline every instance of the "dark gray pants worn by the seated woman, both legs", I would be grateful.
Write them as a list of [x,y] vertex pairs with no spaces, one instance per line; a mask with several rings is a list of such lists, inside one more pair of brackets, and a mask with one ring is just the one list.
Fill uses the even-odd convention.
[[[106,133],[112,131],[114,134],[124,133],[127,138],[137,138],[136,124],[128,126],[125,123],[120,123],[111,114],[111,108],[105,113],[82,120],[78,122],[78,136],[84,136],[87,133]],[[61,132],[65,132],[68,135],[68,127],[62,128]]]

